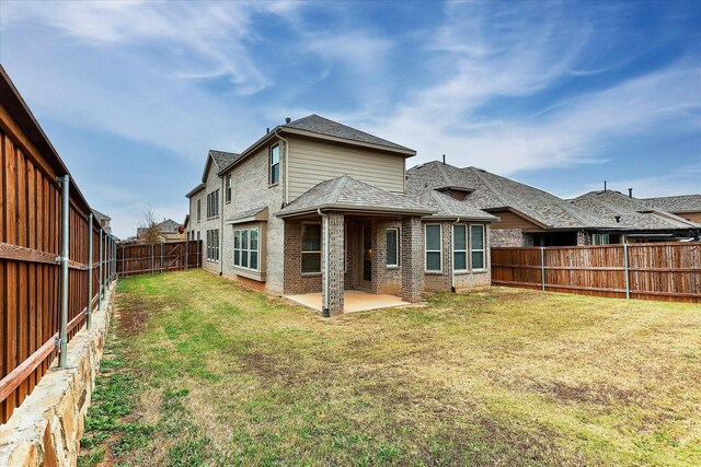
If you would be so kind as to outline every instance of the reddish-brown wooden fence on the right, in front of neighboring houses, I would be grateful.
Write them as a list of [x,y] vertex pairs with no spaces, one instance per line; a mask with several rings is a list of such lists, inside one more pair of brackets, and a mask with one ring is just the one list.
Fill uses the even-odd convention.
[[492,284],[701,302],[701,243],[492,248]]

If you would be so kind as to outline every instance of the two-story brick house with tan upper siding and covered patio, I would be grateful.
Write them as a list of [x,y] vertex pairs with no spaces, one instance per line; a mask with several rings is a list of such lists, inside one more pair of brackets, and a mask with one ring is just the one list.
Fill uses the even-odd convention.
[[241,153],[209,151],[189,198],[204,267],[283,294],[401,294],[487,285],[496,218],[433,190],[405,191],[415,151],[317,115]]

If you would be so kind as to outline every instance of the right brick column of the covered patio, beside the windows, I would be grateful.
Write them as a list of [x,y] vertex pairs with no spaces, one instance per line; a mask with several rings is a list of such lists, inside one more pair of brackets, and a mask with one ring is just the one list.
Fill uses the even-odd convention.
[[401,237],[402,299],[406,302],[418,302],[424,277],[421,218],[402,218]]

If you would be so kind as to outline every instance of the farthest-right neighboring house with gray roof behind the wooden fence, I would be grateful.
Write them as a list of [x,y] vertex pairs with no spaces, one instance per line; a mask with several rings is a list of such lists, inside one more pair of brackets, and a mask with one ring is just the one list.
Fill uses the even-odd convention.
[[[648,200],[633,198],[632,194],[627,196],[614,190],[589,191],[573,199],[572,203],[599,219],[613,220],[629,243],[698,238],[701,229],[700,223],[652,208]],[[595,238],[594,243],[619,242],[611,241],[605,234]]]

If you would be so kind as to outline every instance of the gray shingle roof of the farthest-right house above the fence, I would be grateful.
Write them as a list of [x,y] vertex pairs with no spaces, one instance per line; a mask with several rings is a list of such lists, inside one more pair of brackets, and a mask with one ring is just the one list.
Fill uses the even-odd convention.
[[701,224],[688,221],[670,212],[654,209],[641,199],[630,198],[619,191],[589,191],[572,200],[593,214],[612,220],[620,215],[617,226],[625,230],[686,230],[699,229]]

